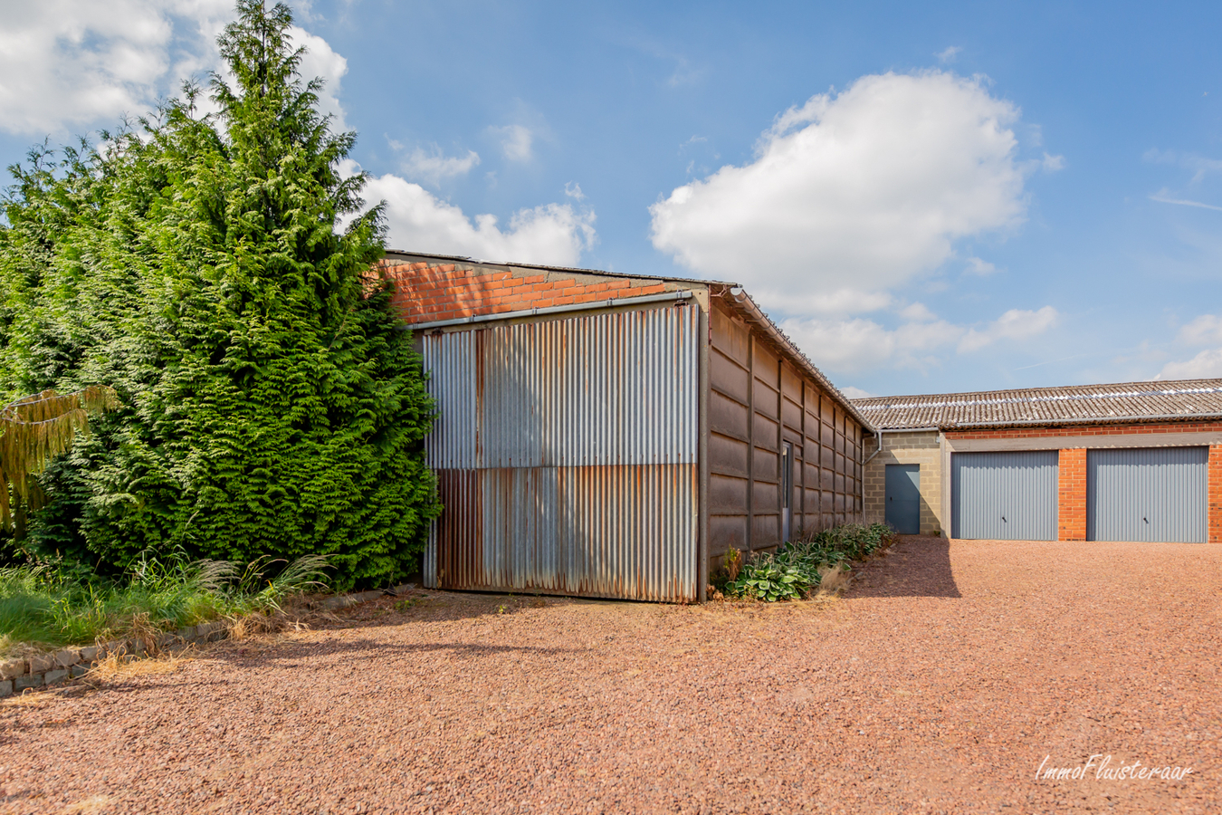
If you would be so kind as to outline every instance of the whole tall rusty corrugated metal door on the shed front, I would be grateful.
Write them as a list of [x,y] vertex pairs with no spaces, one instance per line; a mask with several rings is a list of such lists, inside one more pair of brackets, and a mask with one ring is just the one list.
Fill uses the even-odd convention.
[[695,600],[699,310],[420,337],[445,511],[425,585]]

